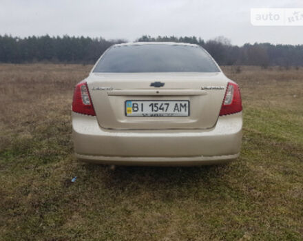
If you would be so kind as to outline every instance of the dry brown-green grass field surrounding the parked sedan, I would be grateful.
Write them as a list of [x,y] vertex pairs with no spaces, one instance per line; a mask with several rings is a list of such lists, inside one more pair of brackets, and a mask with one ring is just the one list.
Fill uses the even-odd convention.
[[1,241],[303,240],[302,67],[223,68],[244,107],[233,163],[115,170],[73,156],[72,90],[91,67],[0,65]]

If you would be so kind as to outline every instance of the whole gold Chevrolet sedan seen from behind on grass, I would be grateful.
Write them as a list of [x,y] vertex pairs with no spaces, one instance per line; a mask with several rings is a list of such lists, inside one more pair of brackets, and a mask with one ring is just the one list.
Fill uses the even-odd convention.
[[240,154],[240,90],[198,45],[113,45],[75,87],[72,130],[94,163],[225,163]]

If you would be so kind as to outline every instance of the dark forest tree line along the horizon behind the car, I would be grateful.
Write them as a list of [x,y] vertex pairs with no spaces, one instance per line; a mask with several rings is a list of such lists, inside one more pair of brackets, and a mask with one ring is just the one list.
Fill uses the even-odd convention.
[[[136,41],[173,41],[195,43],[207,50],[220,65],[302,66],[303,45],[273,45],[271,43],[246,43],[242,46],[219,36],[205,41],[196,36],[141,36]],[[103,52],[125,39],[75,36],[28,36],[25,38],[0,35],[1,63],[94,63]]]

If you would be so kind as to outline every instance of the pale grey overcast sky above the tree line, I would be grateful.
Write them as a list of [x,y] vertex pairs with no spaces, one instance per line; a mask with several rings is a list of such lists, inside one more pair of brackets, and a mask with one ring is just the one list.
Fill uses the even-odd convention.
[[251,8],[303,8],[303,0],[0,0],[0,34],[68,34],[134,41],[151,36],[225,36],[232,44],[303,44],[303,27],[250,23]]

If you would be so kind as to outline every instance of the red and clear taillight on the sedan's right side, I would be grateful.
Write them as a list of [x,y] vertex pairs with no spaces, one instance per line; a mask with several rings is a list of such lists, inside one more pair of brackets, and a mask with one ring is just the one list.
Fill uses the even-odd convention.
[[242,111],[242,101],[239,87],[234,83],[228,83],[220,110],[220,116],[240,111]]

